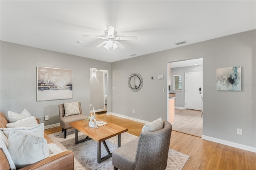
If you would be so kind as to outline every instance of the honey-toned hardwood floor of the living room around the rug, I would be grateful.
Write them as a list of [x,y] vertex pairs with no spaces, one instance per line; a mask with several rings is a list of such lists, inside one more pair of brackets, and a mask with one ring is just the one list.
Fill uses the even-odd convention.
[[[100,114],[97,117],[127,127],[128,132],[136,136],[140,135],[144,125],[113,115]],[[61,130],[61,127],[54,127],[45,131],[50,134]],[[189,134],[172,131],[170,148],[190,156],[183,170],[256,170],[256,153],[210,142]]]

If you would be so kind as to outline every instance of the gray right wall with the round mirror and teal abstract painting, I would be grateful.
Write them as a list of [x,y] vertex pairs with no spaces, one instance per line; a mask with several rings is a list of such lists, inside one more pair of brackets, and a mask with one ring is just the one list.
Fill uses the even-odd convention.
[[[168,87],[167,63],[202,57],[203,135],[256,147],[255,42],[256,30],[252,30],[114,62],[112,112],[145,121],[167,119],[168,91],[162,92]],[[216,69],[233,66],[242,66],[242,91],[216,91]],[[128,77],[136,72],[144,83],[139,92],[132,92]],[[164,75],[164,80],[157,75]],[[236,134],[237,128],[243,129],[242,136]]]

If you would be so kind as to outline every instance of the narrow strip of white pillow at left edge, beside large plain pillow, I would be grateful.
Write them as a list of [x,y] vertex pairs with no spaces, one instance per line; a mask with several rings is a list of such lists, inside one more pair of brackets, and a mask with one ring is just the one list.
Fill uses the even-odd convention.
[[16,170],[15,164],[12,160],[12,156],[10,155],[10,152],[8,150],[8,140],[7,140],[6,136],[4,135],[4,133],[2,132],[2,130],[0,130],[0,148],[2,148],[4,154],[9,162],[10,169]]

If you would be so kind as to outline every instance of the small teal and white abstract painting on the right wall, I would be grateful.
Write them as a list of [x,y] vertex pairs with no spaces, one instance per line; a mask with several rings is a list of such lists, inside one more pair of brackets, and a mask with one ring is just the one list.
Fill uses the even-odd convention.
[[218,91],[241,91],[241,66],[216,69]]

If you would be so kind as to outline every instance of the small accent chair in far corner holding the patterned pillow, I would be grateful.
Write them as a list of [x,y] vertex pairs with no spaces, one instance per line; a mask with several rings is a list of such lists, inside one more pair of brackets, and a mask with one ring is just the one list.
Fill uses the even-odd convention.
[[66,117],[64,117],[64,115],[65,115],[64,104],[59,105],[60,126],[62,127],[62,132],[64,131],[64,138],[66,138],[66,136],[67,136],[67,128],[71,127],[69,125],[70,122],[75,122],[75,121],[80,121],[80,120],[86,119],[86,116],[82,114],[81,103],[78,102],[78,105],[79,105],[80,114],[66,116]]

